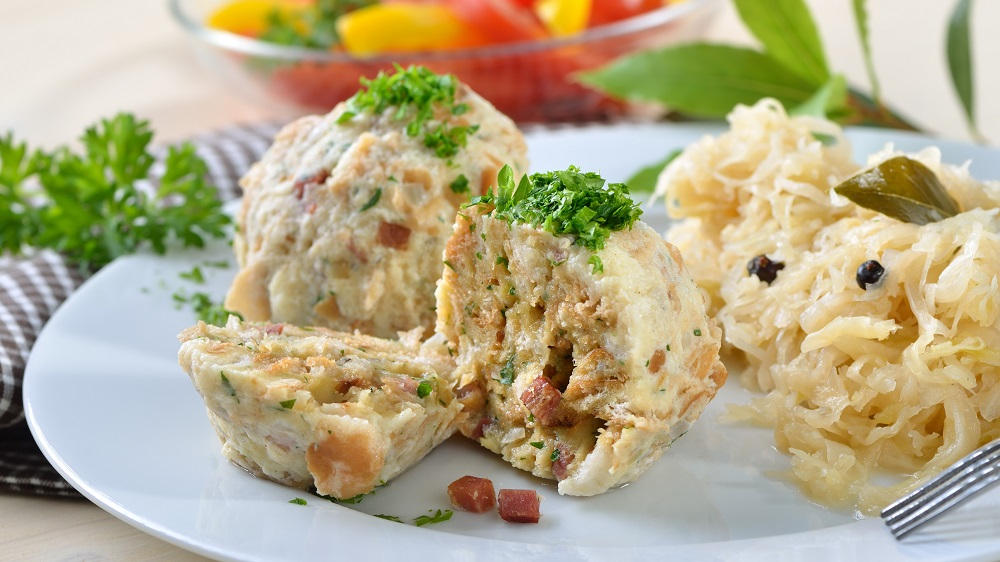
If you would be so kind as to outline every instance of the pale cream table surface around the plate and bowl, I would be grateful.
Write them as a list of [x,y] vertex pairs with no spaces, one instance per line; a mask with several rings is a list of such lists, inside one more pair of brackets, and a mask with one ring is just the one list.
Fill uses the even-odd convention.
[[[866,84],[850,2],[809,2],[831,66]],[[968,138],[947,79],[944,28],[952,2],[879,0],[872,9],[876,65],[887,99],[928,130]],[[975,4],[981,130],[1000,140],[1000,2]],[[712,39],[749,42],[730,6]],[[199,66],[189,40],[156,0],[0,2],[0,131],[52,146],[99,116],[127,109],[170,141],[235,122],[272,119]],[[85,501],[0,494],[0,559],[196,560]]]

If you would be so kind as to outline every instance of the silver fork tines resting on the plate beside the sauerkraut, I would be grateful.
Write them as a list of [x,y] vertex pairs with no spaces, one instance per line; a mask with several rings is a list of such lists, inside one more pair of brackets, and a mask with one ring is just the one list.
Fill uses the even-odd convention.
[[882,510],[897,540],[1000,482],[1000,439],[976,449]]

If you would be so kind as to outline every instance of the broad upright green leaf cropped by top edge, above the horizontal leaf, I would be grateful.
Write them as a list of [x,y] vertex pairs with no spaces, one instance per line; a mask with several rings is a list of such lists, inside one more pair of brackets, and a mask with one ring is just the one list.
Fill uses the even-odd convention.
[[803,0],[733,0],[764,51],[813,86],[830,77],[823,44]]

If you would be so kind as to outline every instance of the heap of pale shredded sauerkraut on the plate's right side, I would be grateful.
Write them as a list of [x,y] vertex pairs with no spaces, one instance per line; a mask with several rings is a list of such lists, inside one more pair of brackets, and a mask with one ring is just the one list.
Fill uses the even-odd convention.
[[[862,169],[833,123],[773,100],[729,122],[657,195],[683,219],[667,238],[712,295],[742,382],[762,392],[731,417],[773,428],[809,495],[871,513],[1000,437],[1000,184],[936,148],[909,155],[963,212],[904,223],[833,191]],[[784,263],[771,284],[747,273],[761,254]],[[864,290],[867,260],[886,271]]]

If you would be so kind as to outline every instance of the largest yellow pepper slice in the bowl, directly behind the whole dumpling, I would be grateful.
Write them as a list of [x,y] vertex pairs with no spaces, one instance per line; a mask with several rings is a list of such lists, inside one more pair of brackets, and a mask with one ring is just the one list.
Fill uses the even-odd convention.
[[337,34],[353,55],[454,49],[475,42],[468,26],[441,4],[373,4],[340,16]]

